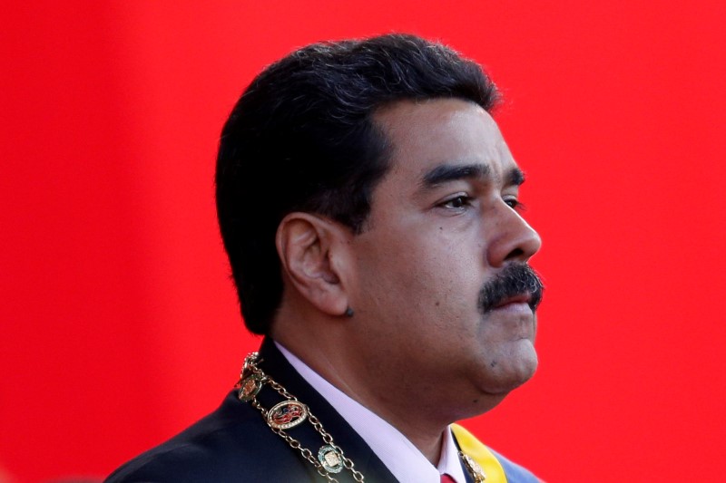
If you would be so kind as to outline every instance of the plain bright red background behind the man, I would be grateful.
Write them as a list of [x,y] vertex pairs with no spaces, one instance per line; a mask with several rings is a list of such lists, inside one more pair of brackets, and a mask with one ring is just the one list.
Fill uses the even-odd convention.
[[216,227],[221,124],[291,49],[396,30],[503,87],[544,238],[540,370],[468,426],[551,482],[723,480],[723,3],[202,4],[3,8],[7,478],[103,476],[217,406],[258,344]]

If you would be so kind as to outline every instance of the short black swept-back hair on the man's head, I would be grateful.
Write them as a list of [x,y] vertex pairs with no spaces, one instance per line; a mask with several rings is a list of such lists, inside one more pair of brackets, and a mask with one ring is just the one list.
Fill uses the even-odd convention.
[[460,98],[491,111],[495,85],[448,47],[409,34],[314,43],[261,72],[221,132],[217,214],[245,324],[268,333],[282,297],[277,228],[293,211],[365,229],[390,147],[373,120],[395,101]]

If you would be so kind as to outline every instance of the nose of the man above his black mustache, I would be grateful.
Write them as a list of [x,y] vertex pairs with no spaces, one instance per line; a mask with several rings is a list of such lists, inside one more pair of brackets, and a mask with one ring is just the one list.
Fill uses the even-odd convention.
[[486,258],[490,266],[525,263],[542,246],[542,238],[515,210],[506,207],[489,227]]

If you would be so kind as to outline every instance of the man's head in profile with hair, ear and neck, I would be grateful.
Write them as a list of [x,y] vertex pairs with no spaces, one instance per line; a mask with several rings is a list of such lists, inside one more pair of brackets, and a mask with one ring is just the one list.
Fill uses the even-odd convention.
[[439,421],[488,411],[529,379],[540,239],[497,100],[476,63],[407,35],[312,45],[262,72],[217,170],[250,330],[409,419],[412,403]]

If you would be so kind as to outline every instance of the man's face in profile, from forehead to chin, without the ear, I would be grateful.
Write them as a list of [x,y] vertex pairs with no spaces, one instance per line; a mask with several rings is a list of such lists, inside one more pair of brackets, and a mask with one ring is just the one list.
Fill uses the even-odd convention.
[[401,101],[375,120],[393,153],[351,238],[351,353],[408,398],[504,397],[537,365],[541,285],[526,262],[540,238],[516,208],[521,171],[474,103]]

